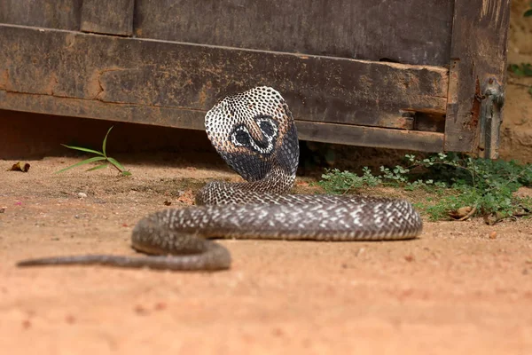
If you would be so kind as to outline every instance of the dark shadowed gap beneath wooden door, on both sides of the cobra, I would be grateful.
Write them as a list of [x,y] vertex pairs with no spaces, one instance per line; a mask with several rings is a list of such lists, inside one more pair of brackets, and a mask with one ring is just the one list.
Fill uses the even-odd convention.
[[[111,122],[51,114],[0,110],[0,159],[33,160],[46,156],[79,155],[61,144],[100,150],[106,131],[113,126],[107,152],[124,162],[208,162],[223,165],[202,130],[182,130],[138,123]],[[360,171],[364,166],[395,166],[407,152],[361,146],[301,141],[298,175],[319,177],[325,168]],[[134,156],[131,156],[134,154]]]

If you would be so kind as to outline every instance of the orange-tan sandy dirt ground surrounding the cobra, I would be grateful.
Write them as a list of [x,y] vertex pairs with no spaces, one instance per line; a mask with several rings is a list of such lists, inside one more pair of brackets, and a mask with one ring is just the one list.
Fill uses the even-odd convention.
[[532,353],[530,219],[426,223],[414,241],[221,241],[226,272],[17,268],[133,255],[139,218],[192,203],[208,179],[237,179],[179,159],[126,160],[127,178],[53,174],[78,161],[32,161],[27,173],[0,161],[2,353]]

